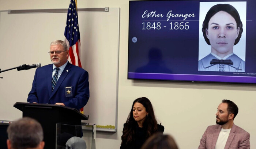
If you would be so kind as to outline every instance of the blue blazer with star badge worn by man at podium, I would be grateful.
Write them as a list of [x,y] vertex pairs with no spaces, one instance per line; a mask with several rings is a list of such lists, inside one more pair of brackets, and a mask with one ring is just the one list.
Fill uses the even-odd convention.
[[62,102],[77,110],[84,107],[89,99],[88,72],[68,62],[52,92],[52,71],[53,64],[36,69],[27,101],[40,104]]

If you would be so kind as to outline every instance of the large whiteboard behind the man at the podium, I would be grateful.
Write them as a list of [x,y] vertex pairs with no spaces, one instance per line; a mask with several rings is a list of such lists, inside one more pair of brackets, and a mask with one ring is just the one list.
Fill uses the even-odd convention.
[[[50,64],[49,44],[64,40],[67,13],[0,12],[0,68],[22,64]],[[90,98],[84,107],[85,122],[117,129],[118,51],[120,8],[109,12],[78,12],[81,63],[89,72]],[[15,102],[27,102],[35,69],[0,73],[0,120],[16,120],[22,112]],[[42,91],[43,92],[43,91]],[[4,114],[5,113],[5,114]],[[49,118],[52,118],[49,116]]]

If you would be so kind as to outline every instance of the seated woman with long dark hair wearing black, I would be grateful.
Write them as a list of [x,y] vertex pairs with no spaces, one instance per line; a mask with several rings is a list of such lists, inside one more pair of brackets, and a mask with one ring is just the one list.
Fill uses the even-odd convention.
[[140,149],[148,137],[156,132],[163,132],[164,129],[157,124],[148,98],[138,98],[133,101],[131,112],[124,124],[120,149]]

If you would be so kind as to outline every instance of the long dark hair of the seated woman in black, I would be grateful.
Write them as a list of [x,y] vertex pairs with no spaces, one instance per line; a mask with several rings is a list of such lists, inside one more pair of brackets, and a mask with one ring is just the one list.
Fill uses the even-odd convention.
[[155,114],[153,110],[153,106],[146,97],[137,98],[132,103],[132,108],[129,116],[126,120],[126,126],[123,130],[123,136],[121,137],[122,143],[121,144],[128,144],[132,142],[132,140],[135,137],[135,128],[138,125],[138,123],[133,118],[133,105],[139,102],[146,108],[146,112],[148,112],[148,115],[146,116],[145,121],[143,122],[143,128],[146,130],[146,138],[150,137],[153,133],[157,132],[157,120],[155,119]]

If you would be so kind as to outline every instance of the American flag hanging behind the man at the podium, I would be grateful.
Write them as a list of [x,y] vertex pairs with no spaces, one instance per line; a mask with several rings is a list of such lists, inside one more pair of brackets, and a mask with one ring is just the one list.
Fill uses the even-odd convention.
[[[67,23],[65,27],[65,43],[69,47],[69,63],[82,68],[80,62],[80,32],[78,27],[77,2],[71,0],[68,7]],[[80,109],[83,113],[83,108]]]

